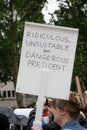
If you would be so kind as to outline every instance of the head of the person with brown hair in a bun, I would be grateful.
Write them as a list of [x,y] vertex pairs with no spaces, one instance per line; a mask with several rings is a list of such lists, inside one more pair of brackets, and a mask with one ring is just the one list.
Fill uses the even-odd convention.
[[83,108],[84,100],[75,92],[70,93],[69,100],[54,99],[52,103],[54,120],[59,125],[64,124],[68,120],[78,119],[80,110]]

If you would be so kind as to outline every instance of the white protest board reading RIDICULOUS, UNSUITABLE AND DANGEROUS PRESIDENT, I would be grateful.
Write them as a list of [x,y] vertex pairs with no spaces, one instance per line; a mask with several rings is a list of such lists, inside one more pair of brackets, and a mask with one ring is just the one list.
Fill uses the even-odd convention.
[[48,72],[45,96],[65,99],[70,91],[78,29],[25,22],[16,92],[39,94]]

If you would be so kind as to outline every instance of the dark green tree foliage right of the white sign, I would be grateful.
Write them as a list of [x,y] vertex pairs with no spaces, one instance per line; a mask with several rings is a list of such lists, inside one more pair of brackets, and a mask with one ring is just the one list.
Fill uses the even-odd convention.
[[50,22],[59,26],[79,28],[73,78],[78,75],[87,82],[87,10],[83,10],[85,0],[57,1],[60,3],[59,8],[51,14]]

